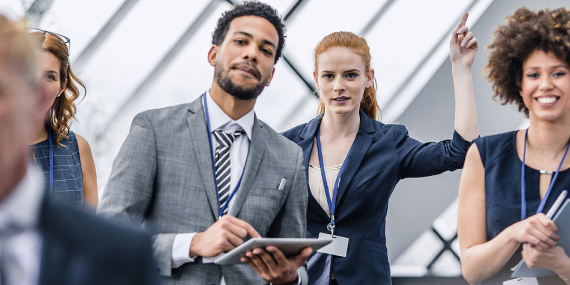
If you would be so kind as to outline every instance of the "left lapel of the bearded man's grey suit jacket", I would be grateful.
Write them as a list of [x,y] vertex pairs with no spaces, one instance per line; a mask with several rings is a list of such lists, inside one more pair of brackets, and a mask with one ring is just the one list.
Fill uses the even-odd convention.
[[214,170],[212,166],[212,153],[210,149],[210,137],[206,127],[206,119],[204,115],[204,107],[202,105],[203,96],[190,103],[188,106],[188,128],[190,130],[189,144],[194,149],[196,155],[197,166],[204,182],[204,189],[210,208],[215,219],[218,220],[218,193],[216,193],[216,184],[214,181]]

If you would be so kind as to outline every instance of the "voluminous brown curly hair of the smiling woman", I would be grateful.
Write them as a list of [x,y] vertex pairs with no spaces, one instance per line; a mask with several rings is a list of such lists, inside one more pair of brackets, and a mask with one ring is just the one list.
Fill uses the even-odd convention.
[[508,16],[507,24],[499,26],[494,36],[487,47],[492,51],[485,67],[493,98],[503,105],[517,104],[528,118],[520,96],[523,63],[532,52],[542,50],[570,66],[570,12],[564,7],[538,12],[523,7]]

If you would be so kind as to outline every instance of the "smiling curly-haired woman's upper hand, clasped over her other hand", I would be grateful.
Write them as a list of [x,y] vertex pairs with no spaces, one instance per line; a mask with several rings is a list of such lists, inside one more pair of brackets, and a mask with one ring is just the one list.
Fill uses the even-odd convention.
[[556,241],[559,240],[559,237],[556,231],[558,228],[543,213],[528,217],[511,227],[513,237],[518,243],[530,243],[529,247],[536,247],[542,251],[557,246]]

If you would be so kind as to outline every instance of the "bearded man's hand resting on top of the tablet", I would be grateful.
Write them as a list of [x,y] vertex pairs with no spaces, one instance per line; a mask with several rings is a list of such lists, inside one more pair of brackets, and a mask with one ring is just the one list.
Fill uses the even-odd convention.
[[247,236],[261,235],[247,222],[230,215],[224,215],[206,231],[197,233],[190,244],[189,256],[213,257],[228,252],[243,243]]

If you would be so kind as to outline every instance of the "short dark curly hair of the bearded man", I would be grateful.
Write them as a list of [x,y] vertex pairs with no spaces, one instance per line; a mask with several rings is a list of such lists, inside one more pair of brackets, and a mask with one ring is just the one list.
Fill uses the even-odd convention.
[[242,16],[258,16],[273,24],[279,35],[279,43],[277,44],[274,61],[274,63],[277,63],[277,60],[281,57],[281,51],[285,46],[285,24],[281,21],[277,10],[264,3],[246,1],[243,4],[235,5],[232,10],[224,12],[218,19],[218,25],[212,33],[212,44],[220,46],[226,38],[230,23],[233,19]]

